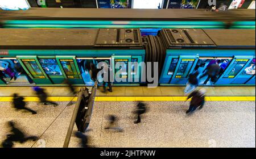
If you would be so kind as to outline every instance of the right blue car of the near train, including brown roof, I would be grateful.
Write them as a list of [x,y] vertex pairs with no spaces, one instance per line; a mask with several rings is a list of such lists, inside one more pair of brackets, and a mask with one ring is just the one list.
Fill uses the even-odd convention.
[[159,36],[167,48],[162,85],[185,85],[189,74],[201,76],[216,61],[217,79],[201,76],[200,85],[255,85],[255,30],[166,29]]

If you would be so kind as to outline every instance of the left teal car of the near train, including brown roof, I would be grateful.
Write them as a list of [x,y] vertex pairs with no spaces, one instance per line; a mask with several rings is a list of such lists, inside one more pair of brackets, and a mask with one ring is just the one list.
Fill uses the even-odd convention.
[[[140,69],[131,69],[129,63],[144,59],[138,29],[1,29],[0,32],[0,64],[7,62],[10,68],[9,72],[2,71],[6,76],[0,81],[2,85],[61,85],[64,79],[75,85],[94,85],[90,64],[99,62],[109,65],[112,62],[113,66],[115,62],[124,62],[122,68],[112,68],[114,73],[125,69],[121,78],[140,76]],[[15,70],[15,64],[20,65],[20,71]],[[21,76],[10,79],[20,72]],[[119,84],[138,85],[138,82]]]

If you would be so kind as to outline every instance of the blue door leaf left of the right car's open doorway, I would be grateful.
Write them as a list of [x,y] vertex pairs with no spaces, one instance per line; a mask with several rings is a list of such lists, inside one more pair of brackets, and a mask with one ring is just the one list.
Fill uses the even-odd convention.
[[170,84],[184,85],[188,81],[188,75],[195,68],[198,58],[198,56],[180,56]]

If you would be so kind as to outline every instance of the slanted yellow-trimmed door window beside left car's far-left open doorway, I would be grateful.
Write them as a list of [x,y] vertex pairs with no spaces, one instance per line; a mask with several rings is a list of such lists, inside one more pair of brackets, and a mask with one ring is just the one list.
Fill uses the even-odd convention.
[[35,59],[22,59],[22,62],[34,78],[46,78],[43,72],[40,70]]

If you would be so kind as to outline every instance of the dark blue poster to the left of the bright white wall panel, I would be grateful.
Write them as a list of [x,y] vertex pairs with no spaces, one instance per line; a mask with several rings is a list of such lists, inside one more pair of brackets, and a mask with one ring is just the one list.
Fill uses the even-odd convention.
[[127,0],[98,0],[98,7],[104,9],[126,9]]

